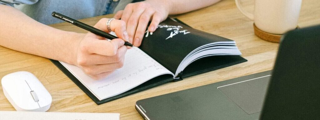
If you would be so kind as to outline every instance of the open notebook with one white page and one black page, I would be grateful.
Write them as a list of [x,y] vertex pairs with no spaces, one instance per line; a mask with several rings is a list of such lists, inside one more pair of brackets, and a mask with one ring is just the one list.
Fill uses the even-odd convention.
[[[137,88],[137,86],[149,80],[157,79],[157,81],[167,81],[170,78],[172,81],[177,79],[181,80],[181,77],[183,76],[182,71],[194,61],[198,61],[204,57],[221,57],[223,55],[225,57],[221,60],[224,60],[224,62],[221,61],[221,66],[218,65],[220,67],[226,67],[246,61],[239,56],[241,55],[241,52],[237,49],[235,41],[198,31],[172,19],[167,19],[160,23],[156,32],[146,32],[139,48],[133,47],[128,49],[125,54],[124,66],[117,69],[103,80],[93,80],[91,77],[84,74],[79,67],[74,65],[60,62],[59,67],[57,63],[54,63],[60,69],[63,66],[64,69],[68,70],[65,71],[64,69],[61,69],[65,73],[67,72],[67,75],[68,73],[72,74],[74,77],[70,77],[70,74],[68,75],[71,79],[76,78],[77,81],[83,84],[85,89],[90,92],[90,97],[93,97],[92,95],[94,95],[94,97],[98,99],[97,101],[103,101],[118,96],[133,88]],[[228,59],[231,59],[231,61]],[[217,59],[211,61],[217,62]],[[211,61],[206,60],[205,63],[197,62],[196,64],[198,65],[196,66],[201,66],[200,64],[212,65],[210,63]],[[214,69],[220,68],[217,67],[216,63],[214,66],[209,66],[209,68],[213,67]],[[191,69],[191,71],[194,70],[193,72],[189,72],[192,75],[212,70],[205,67],[194,67],[189,69]],[[165,77],[162,78],[163,76]],[[148,83],[147,86],[149,87],[147,88],[159,84],[159,82],[156,84]],[[88,92],[86,93],[88,94]],[[113,99],[109,99],[109,101],[110,100]],[[97,101],[95,101],[97,104],[101,103]]]

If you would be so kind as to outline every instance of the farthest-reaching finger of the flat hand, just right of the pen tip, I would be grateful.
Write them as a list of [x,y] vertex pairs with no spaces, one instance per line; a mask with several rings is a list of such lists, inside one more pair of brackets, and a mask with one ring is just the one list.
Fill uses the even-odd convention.
[[153,9],[146,9],[140,16],[137,30],[134,35],[134,42],[133,45],[139,47],[141,44],[141,41],[143,39],[144,33],[146,32],[146,28],[148,26],[148,23],[150,21],[151,16],[156,11]]

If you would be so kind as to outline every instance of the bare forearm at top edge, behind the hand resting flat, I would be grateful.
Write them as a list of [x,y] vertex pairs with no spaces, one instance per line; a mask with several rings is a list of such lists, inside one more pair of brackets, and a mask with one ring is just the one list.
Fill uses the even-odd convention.
[[169,15],[181,14],[215,4],[220,0],[146,0],[167,7]]

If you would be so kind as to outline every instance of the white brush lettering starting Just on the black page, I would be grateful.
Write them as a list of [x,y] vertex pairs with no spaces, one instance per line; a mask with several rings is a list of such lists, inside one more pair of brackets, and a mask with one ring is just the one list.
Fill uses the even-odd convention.
[[[148,26],[148,27],[149,27],[149,26]],[[177,34],[179,34],[179,33],[183,33],[184,35],[190,33],[190,32],[188,32],[188,30],[181,30],[181,31],[180,31],[180,29],[183,28],[183,27],[180,26],[180,25],[178,25],[178,26],[158,25],[157,28],[167,28],[167,31],[172,31],[172,30],[173,30],[173,32],[171,32],[170,35],[169,35],[169,37],[166,38],[166,39],[172,38],[173,36],[175,36],[175,35],[177,35]],[[146,37],[148,37],[148,36],[149,36],[149,31],[147,30],[145,33],[146,33]],[[152,35],[152,34],[153,34],[153,33],[150,32],[150,35]]]

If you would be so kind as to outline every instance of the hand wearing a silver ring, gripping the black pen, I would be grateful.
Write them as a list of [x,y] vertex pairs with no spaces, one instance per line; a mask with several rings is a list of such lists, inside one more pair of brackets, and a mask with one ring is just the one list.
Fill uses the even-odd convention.
[[[109,32],[106,25],[107,20],[108,18],[102,18],[94,27]],[[125,27],[124,21],[112,20],[110,28],[116,32],[119,39],[110,41],[91,32],[85,34],[75,50],[75,65],[96,80],[103,79],[121,68],[124,65],[124,54],[127,51],[123,39],[129,38]]]

